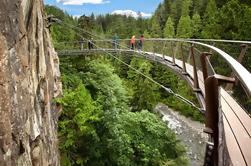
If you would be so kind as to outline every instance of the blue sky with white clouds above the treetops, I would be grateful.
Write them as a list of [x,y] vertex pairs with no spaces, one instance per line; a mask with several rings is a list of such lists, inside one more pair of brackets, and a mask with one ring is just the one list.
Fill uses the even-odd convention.
[[144,17],[151,16],[163,0],[44,0],[47,5],[54,5],[72,16],[116,13],[137,17],[138,12]]

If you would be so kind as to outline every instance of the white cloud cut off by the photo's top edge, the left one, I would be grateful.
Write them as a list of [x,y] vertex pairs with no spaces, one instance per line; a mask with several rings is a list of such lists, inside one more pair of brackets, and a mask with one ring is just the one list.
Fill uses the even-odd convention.
[[110,3],[109,0],[57,0],[57,2],[63,3],[63,5],[83,5],[84,3],[89,3],[89,4]]

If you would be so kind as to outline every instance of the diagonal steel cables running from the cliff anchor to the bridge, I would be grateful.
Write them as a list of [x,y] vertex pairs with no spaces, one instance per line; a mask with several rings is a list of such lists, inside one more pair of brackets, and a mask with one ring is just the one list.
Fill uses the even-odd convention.
[[[82,31],[82,32],[85,32],[85,33],[89,34],[90,36],[93,36],[93,37],[97,37],[97,38],[103,39],[102,37],[97,36],[97,35],[94,35],[94,34],[92,34],[91,32],[86,31],[86,30],[83,30],[83,29],[81,29],[81,28],[79,28],[79,27],[76,27],[76,26],[73,26],[73,25],[70,25],[70,24],[67,24],[67,23],[64,23],[64,22],[60,22],[60,24],[64,24],[64,25],[66,25],[66,26],[69,26],[69,27],[72,28],[72,29],[80,30],[80,31]],[[80,35],[79,33],[78,33],[78,36],[81,36],[83,40],[88,41],[87,39],[85,39],[85,38],[84,38],[82,35]],[[155,80],[152,79],[151,77],[145,75],[144,73],[142,73],[141,71],[139,71],[139,70],[137,70],[136,68],[132,67],[131,65],[127,64],[126,62],[122,61],[122,60],[119,59],[118,57],[116,57],[116,56],[114,56],[113,54],[107,52],[104,48],[101,48],[101,47],[97,46],[97,45],[94,44],[93,42],[91,42],[91,43],[92,43],[96,48],[102,50],[102,51],[105,52],[106,54],[112,56],[112,57],[113,57],[114,59],[116,59],[117,61],[119,61],[119,62],[121,62],[122,64],[126,65],[126,66],[129,67],[130,69],[134,70],[137,74],[140,74],[140,75],[144,76],[145,78],[147,78],[148,80],[150,80],[150,81],[153,82],[154,84],[156,84],[156,85],[158,85],[159,87],[163,88],[165,91],[167,91],[169,94],[172,94],[174,97],[176,97],[176,98],[179,99],[180,101],[182,101],[182,102],[184,102],[184,103],[186,103],[186,104],[188,104],[188,105],[194,107],[195,109],[199,110],[200,112],[202,112],[203,109],[197,107],[192,101],[186,99],[185,97],[181,96],[181,95],[178,94],[178,93],[175,93],[172,89],[165,87],[164,85],[162,85],[162,84],[160,84],[159,82],[155,81]],[[113,43],[113,42],[111,42],[111,43]],[[121,45],[119,45],[119,44],[118,44],[118,46],[124,47],[124,46],[121,46]],[[127,49],[127,47],[124,47],[124,48]],[[138,53],[141,54],[141,55],[144,55],[144,54],[141,53],[141,52],[138,52]]]

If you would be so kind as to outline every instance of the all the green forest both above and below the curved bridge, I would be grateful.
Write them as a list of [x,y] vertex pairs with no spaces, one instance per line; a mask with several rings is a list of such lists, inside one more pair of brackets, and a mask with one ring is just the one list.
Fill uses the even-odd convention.
[[[54,6],[46,6],[46,11],[105,38],[114,34],[121,39],[141,34],[146,38],[251,37],[249,0],[164,0],[148,19],[111,14],[73,18]],[[55,46],[93,37],[61,25],[50,30]],[[186,83],[164,66],[116,56],[196,103]],[[55,102],[63,106],[58,124],[61,165],[188,165],[185,148],[153,110],[161,102],[193,120],[203,121],[201,113],[109,56],[66,56],[60,63],[64,95]]]

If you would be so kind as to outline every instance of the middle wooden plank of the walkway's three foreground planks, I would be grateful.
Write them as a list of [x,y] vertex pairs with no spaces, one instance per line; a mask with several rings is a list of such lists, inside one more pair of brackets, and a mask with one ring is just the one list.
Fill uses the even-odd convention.
[[[249,134],[234,113],[234,110],[232,110],[232,108],[229,106],[228,101],[226,101],[223,96],[221,96],[221,106],[223,114],[230,125],[230,128],[236,138],[247,165],[251,165],[251,138]],[[231,146],[229,148],[231,148]]]

